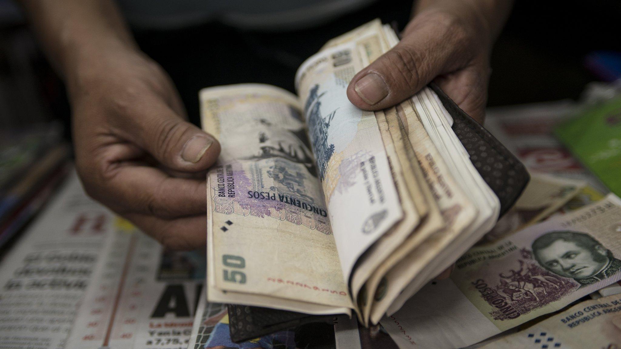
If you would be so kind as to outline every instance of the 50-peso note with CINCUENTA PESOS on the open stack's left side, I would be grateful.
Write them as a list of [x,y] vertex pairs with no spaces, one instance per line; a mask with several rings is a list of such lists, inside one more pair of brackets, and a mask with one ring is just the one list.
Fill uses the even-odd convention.
[[[209,301],[351,308],[294,96],[244,84],[204,89],[201,102],[204,129],[222,145],[208,174]],[[252,301],[223,299],[235,293]]]

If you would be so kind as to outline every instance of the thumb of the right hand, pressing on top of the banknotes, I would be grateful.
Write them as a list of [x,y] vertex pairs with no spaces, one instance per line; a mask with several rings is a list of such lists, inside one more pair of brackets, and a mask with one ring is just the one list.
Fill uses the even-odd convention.
[[391,107],[457,68],[463,55],[456,54],[460,43],[450,27],[415,19],[401,42],[351,79],[347,88],[351,103],[372,111]]

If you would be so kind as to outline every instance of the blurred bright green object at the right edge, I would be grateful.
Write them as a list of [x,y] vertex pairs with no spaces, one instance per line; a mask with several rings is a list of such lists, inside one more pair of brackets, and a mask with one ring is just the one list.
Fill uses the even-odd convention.
[[621,96],[587,106],[555,130],[556,137],[610,191],[621,196]]

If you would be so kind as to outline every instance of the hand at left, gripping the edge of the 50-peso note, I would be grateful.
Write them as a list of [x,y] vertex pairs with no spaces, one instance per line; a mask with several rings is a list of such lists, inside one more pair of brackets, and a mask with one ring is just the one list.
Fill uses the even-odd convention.
[[81,54],[67,84],[84,189],[165,247],[204,247],[219,143],[186,121],[168,75],[137,48]]

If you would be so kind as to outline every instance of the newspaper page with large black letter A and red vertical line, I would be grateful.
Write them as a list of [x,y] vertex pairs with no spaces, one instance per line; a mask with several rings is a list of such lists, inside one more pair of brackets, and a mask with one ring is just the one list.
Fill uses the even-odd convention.
[[165,251],[126,223],[104,248],[67,347],[186,349],[205,260]]

